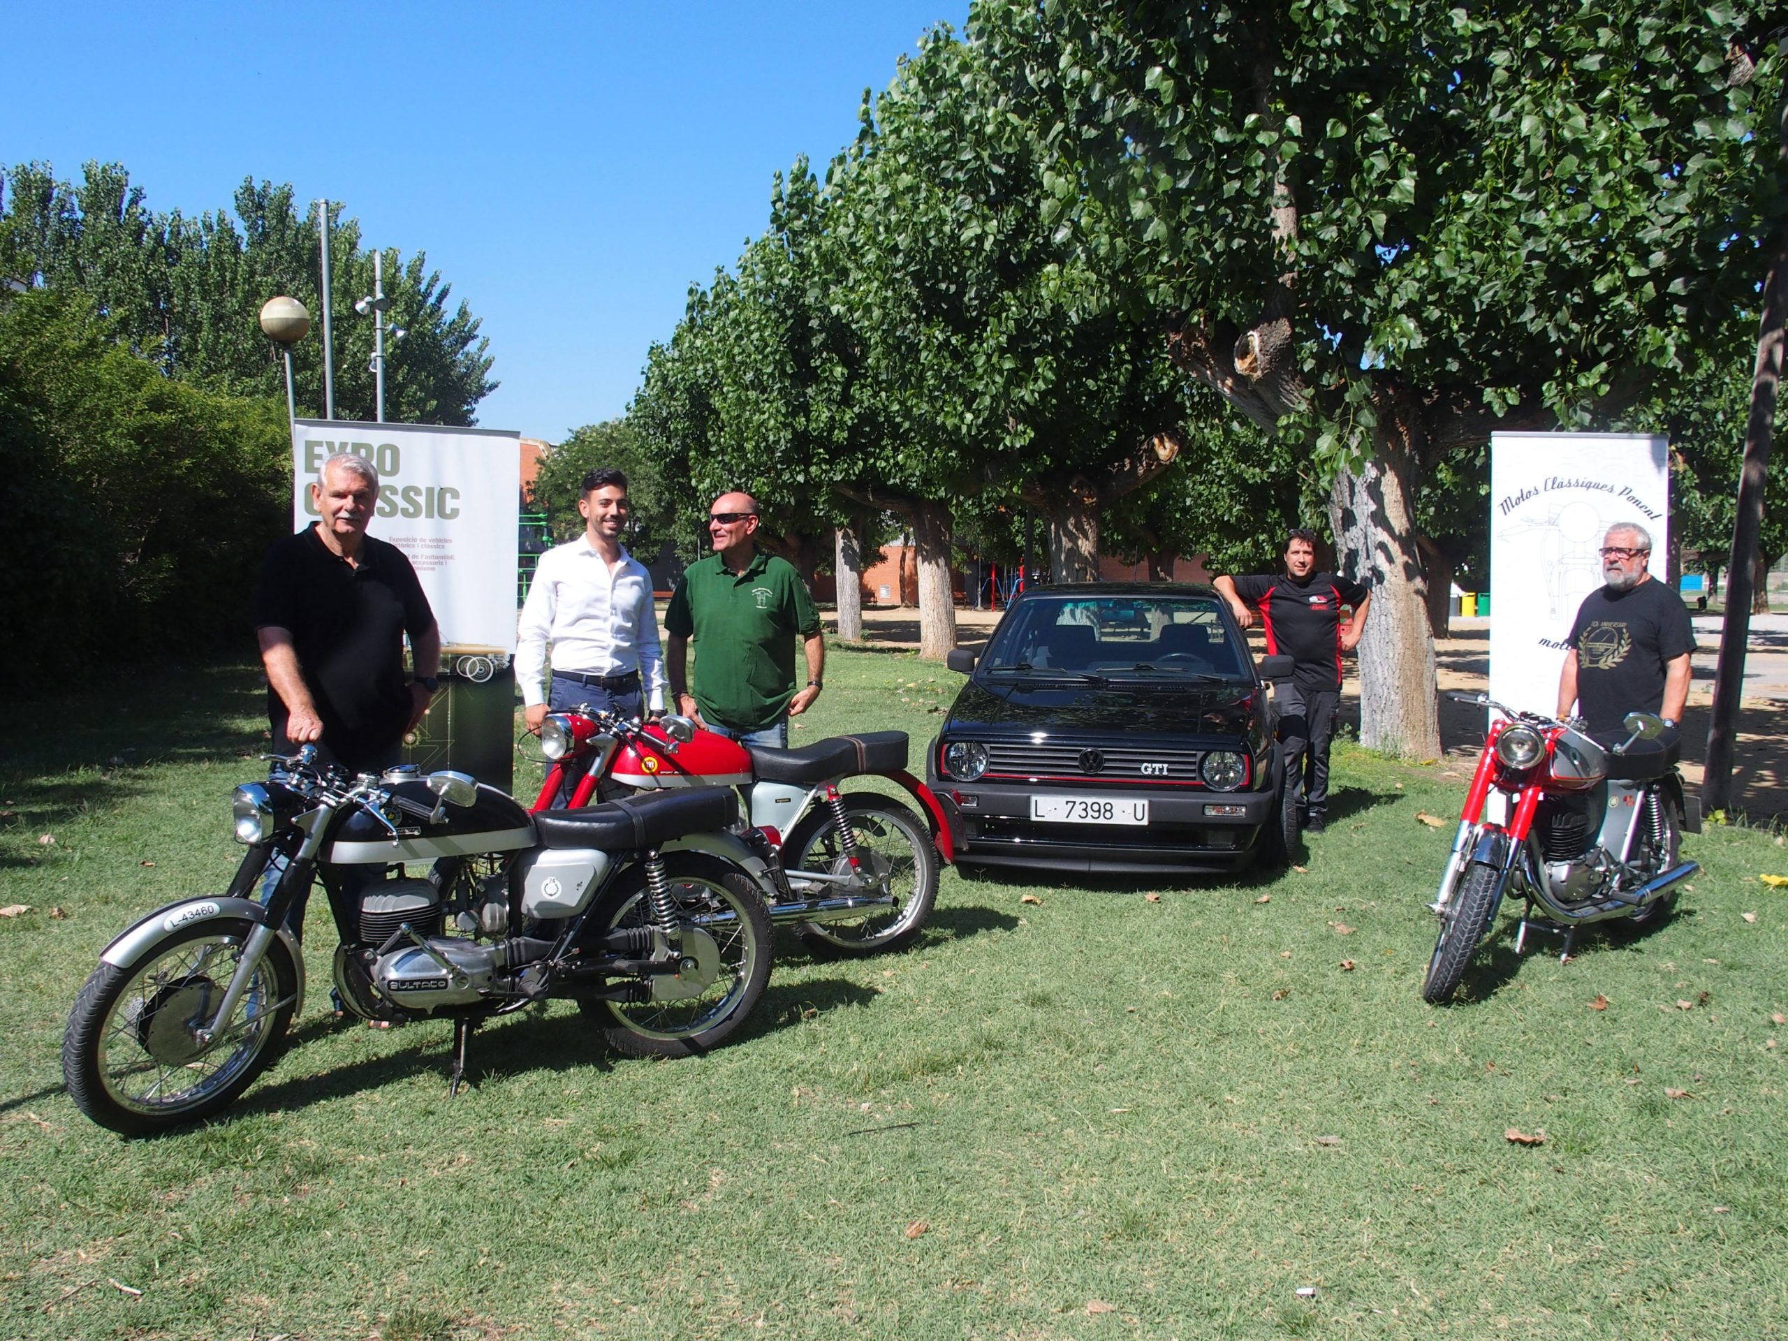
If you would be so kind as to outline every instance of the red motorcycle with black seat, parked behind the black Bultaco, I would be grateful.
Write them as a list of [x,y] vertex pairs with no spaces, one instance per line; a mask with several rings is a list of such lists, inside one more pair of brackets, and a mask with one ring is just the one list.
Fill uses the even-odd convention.
[[[819,951],[873,955],[910,944],[937,901],[939,862],[953,860],[949,821],[907,772],[907,733],[840,735],[801,749],[742,746],[688,717],[640,722],[594,708],[549,713],[552,762],[535,810],[676,787],[737,787],[744,839],[771,869],[771,921],[794,924]],[[899,783],[928,817],[880,792],[840,792],[846,778]]]

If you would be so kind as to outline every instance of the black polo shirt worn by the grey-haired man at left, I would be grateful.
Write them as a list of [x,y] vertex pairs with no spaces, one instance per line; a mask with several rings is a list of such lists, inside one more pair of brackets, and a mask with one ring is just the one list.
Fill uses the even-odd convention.
[[[299,670],[324,722],[324,746],[349,769],[384,760],[402,740],[413,697],[404,633],[434,628],[417,570],[397,545],[361,536],[359,565],[331,551],[316,526],[281,540],[261,565],[254,626],[291,633]],[[286,740],[284,699],[266,690],[275,749]]]

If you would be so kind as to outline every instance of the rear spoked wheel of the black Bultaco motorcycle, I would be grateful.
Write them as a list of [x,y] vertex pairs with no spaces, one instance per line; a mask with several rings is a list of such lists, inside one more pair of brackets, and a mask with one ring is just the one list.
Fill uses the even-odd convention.
[[[583,999],[608,1042],[635,1057],[688,1057],[719,1046],[763,996],[771,976],[771,919],[751,880],[699,853],[665,853],[685,962],[645,980],[645,1001]],[[590,914],[597,932],[649,926],[645,867],[620,874]]]

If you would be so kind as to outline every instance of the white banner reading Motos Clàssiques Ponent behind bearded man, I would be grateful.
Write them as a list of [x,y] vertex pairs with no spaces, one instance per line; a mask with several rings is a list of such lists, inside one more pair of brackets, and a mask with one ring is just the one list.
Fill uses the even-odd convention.
[[1634,433],[1489,436],[1489,697],[1525,712],[1557,708],[1564,638],[1602,585],[1609,526],[1643,526],[1652,579],[1665,579],[1668,445]]

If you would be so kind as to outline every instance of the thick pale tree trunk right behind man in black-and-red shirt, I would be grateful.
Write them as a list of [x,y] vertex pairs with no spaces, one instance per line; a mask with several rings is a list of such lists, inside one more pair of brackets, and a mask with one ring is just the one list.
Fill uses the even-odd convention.
[[[1387,434],[1407,436],[1391,426]],[[1414,535],[1409,443],[1382,442],[1359,474],[1343,470],[1330,493],[1341,567],[1371,588],[1359,642],[1359,738],[1368,749],[1430,760],[1441,753],[1429,590]]]

